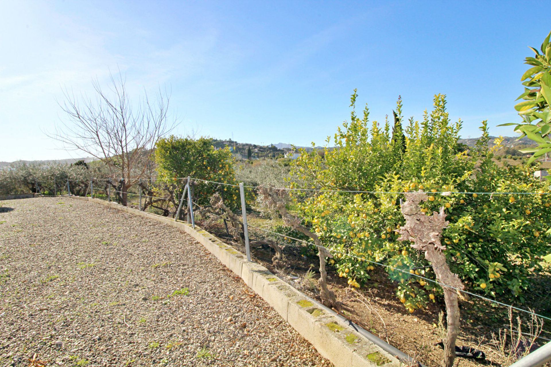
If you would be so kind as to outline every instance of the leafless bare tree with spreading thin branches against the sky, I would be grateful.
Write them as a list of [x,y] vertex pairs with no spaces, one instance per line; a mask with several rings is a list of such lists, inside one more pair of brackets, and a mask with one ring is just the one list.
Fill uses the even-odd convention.
[[95,98],[77,98],[63,90],[64,101],[59,105],[68,119],[47,135],[61,141],[64,149],[80,150],[104,162],[111,178],[121,180],[120,194],[126,205],[126,193],[145,176],[156,142],[176,126],[168,117],[170,96],[159,89],[153,101],[147,94],[132,101],[120,71],[110,74],[109,92],[98,79],[92,85]]

